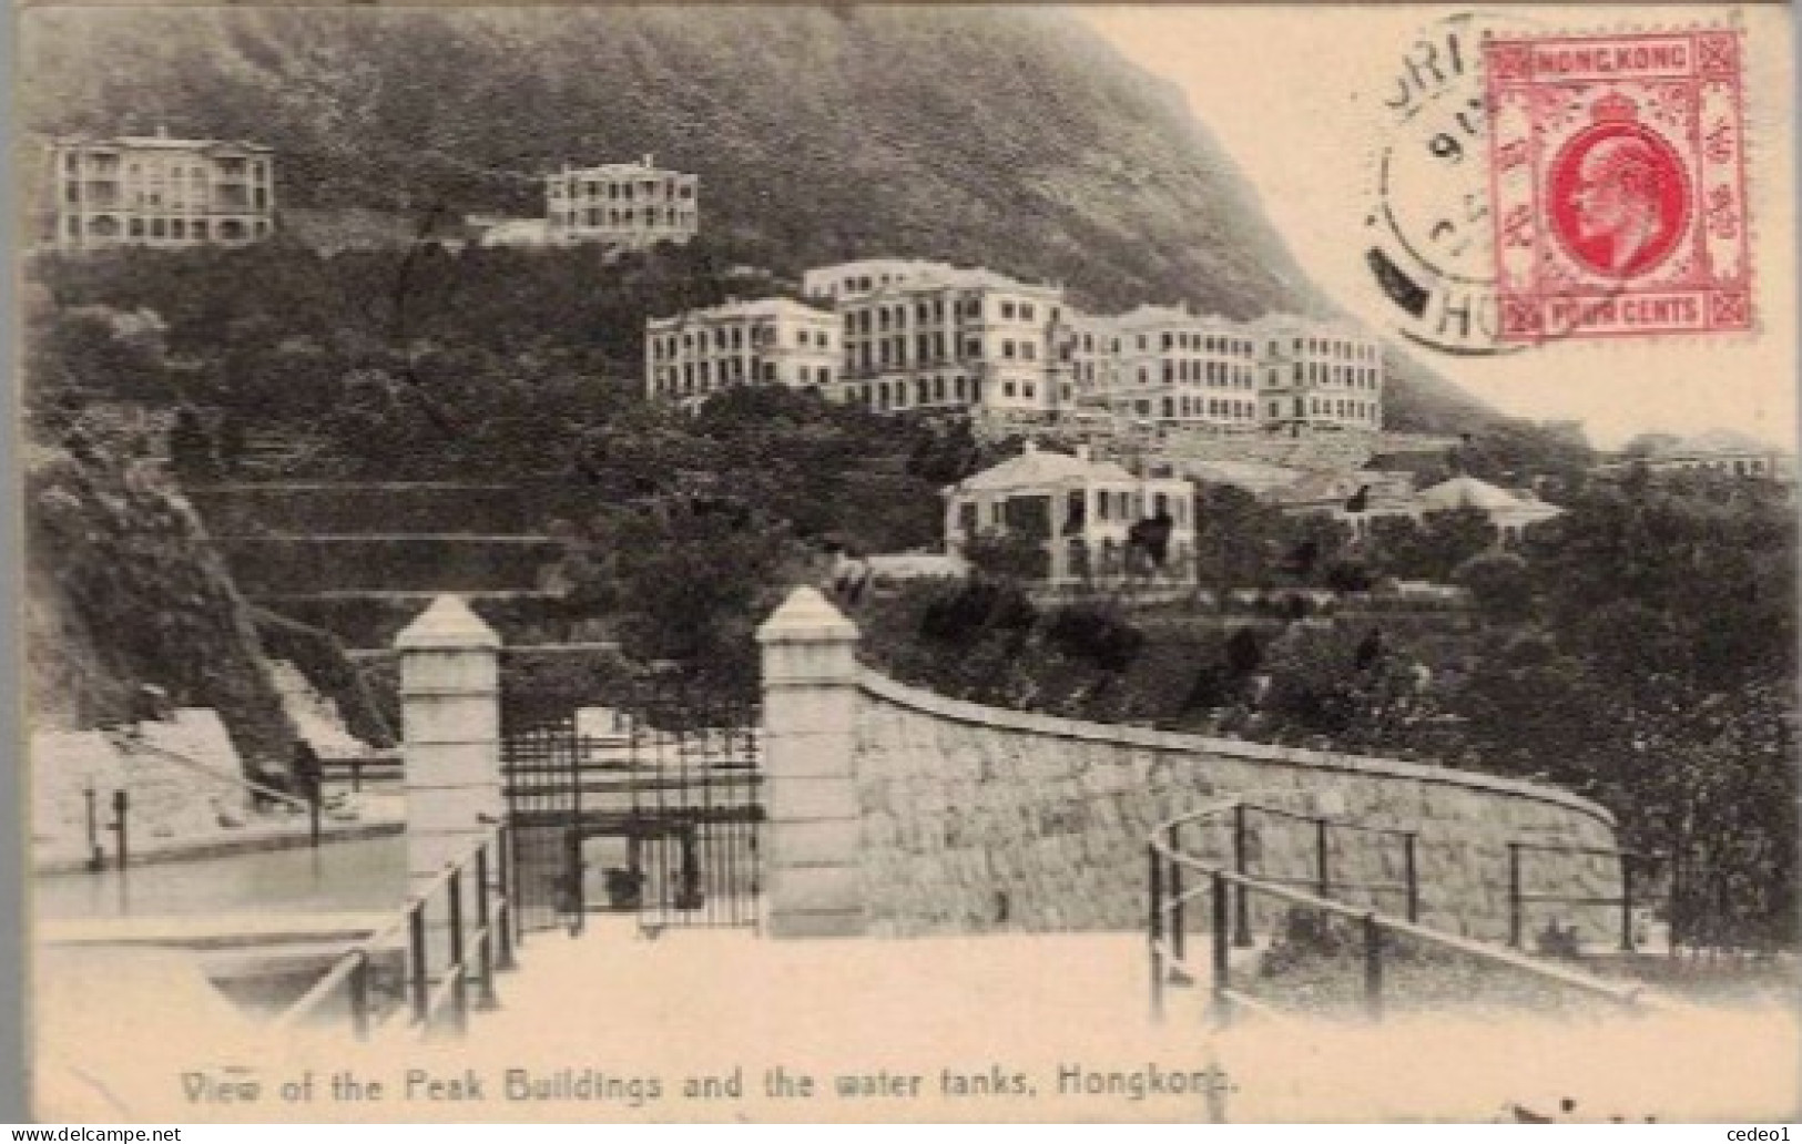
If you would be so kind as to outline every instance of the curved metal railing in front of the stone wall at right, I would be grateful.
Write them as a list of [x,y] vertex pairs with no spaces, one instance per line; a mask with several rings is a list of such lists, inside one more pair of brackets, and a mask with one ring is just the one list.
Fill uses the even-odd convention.
[[[1269,876],[1258,876],[1247,872],[1247,854],[1245,854],[1245,814],[1247,813],[1267,813],[1279,818],[1314,822],[1319,829],[1317,838],[1321,847],[1323,874],[1319,879],[1321,892],[1308,892],[1296,888],[1288,883],[1299,879],[1272,879]],[[1234,827],[1233,834],[1233,858],[1231,867],[1227,861],[1215,861],[1200,858],[1197,854],[1188,854],[1180,849],[1182,829],[1193,823],[1206,825],[1227,825]],[[1332,883],[1324,872],[1324,829],[1326,827],[1344,827],[1357,829],[1373,834],[1397,834],[1402,836],[1407,850],[1407,883],[1402,886],[1407,892],[1409,917],[1393,917],[1380,913],[1375,908],[1359,908],[1344,901],[1326,897],[1324,890]],[[1420,924],[1416,917],[1418,908],[1418,883],[1415,877],[1415,841],[1418,834],[1413,831],[1400,831],[1391,827],[1370,827],[1364,823],[1339,823],[1321,816],[1301,814],[1296,811],[1287,811],[1279,807],[1265,807],[1260,804],[1247,802],[1245,798],[1225,798],[1197,811],[1179,814],[1175,818],[1160,823],[1146,838],[1146,854],[1150,863],[1150,915],[1148,915],[1148,944],[1151,955],[1151,1012],[1155,1018],[1162,1018],[1164,1012],[1164,987],[1166,978],[1195,978],[1198,976],[1198,967],[1188,960],[1186,951],[1186,908],[1188,903],[1200,897],[1207,897],[1213,906],[1213,933],[1211,933],[1211,991],[1213,991],[1213,1011],[1216,1020],[1229,1020],[1234,1003],[1243,1005],[1249,998],[1243,991],[1234,989],[1231,982],[1231,955],[1229,942],[1238,946],[1251,946],[1249,933],[1249,904],[1247,899],[1252,892],[1287,901],[1290,904],[1306,906],[1355,921],[1362,928],[1364,937],[1364,1002],[1366,1011],[1371,1018],[1380,1018],[1382,1014],[1382,937],[1384,933],[1411,937],[1415,940],[1429,942],[1445,949],[1454,949],[1469,957],[1476,957],[1508,969],[1526,973],[1548,982],[1555,982],[1564,987],[1579,989],[1595,996],[1602,996],[1615,1003],[1629,1009],[1647,1009],[1661,1003],[1654,994],[1651,994],[1642,985],[1624,985],[1618,982],[1609,982],[1600,976],[1584,973],[1580,969],[1571,969],[1566,966],[1552,966],[1537,958],[1526,957],[1515,949],[1503,949],[1490,942],[1481,942],[1476,939],[1445,933]],[[1519,859],[1514,847],[1521,849],[1541,849],[1541,850],[1559,850],[1550,843],[1508,843],[1510,845],[1510,913],[1515,915],[1512,922],[1514,937],[1517,939],[1517,913],[1519,913],[1519,877],[1517,867]],[[1640,858],[1627,850],[1611,850],[1602,847],[1568,847],[1571,852],[1586,852],[1602,858],[1620,858],[1622,868],[1629,858]],[[1191,870],[1206,877],[1202,885],[1184,888],[1182,872]],[[1377,886],[1346,886],[1373,890]],[[1384,886],[1393,888],[1393,886]],[[1234,894],[1236,892],[1236,894]],[[1234,901],[1229,901],[1234,899]],[[1631,912],[1631,892],[1625,892],[1620,899],[1624,910]],[[1609,904],[1615,899],[1607,899]],[[1236,910],[1234,910],[1236,906]],[[1233,917],[1236,913],[1236,919]],[[1254,1011],[1265,1011],[1269,1005],[1254,1003],[1245,1005]]]

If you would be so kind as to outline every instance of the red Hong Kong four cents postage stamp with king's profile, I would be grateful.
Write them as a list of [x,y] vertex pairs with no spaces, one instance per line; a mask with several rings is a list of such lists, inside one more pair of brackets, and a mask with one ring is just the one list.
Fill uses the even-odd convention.
[[1741,47],[1485,43],[1501,340],[1752,326]]

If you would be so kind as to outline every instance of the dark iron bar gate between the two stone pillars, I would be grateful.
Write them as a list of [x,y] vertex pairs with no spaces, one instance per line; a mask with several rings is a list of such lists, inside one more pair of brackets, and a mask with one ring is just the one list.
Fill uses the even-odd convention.
[[501,771],[519,922],[633,913],[755,926],[764,822],[757,706],[681,668],[532,670],[508,652]]

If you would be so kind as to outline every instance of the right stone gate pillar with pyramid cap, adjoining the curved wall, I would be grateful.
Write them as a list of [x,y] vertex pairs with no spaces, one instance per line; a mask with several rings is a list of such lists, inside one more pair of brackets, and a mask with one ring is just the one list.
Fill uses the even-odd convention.
[[798,587],[764,647],[764,838],[771,937],[863,933],[856,787],[858,625]]

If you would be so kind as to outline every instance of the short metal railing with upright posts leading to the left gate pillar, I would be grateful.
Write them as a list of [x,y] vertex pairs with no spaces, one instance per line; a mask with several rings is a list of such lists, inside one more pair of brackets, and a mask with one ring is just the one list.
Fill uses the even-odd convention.
[[414,894],[395,921],[348,949],[276,1018],[276,1027],[321,1018],[342,996],[351,1034],[368,1040],[380,1016],[377,964],[382,955],[400,953],[398,1000],[409,1027],[429,1036],[449,1012],[449,1029],[465,1032],[472,1009],[496,1007],[494,975],[514,967],[519,933],[508,841],[508,827],[496,825],[461,861]]

